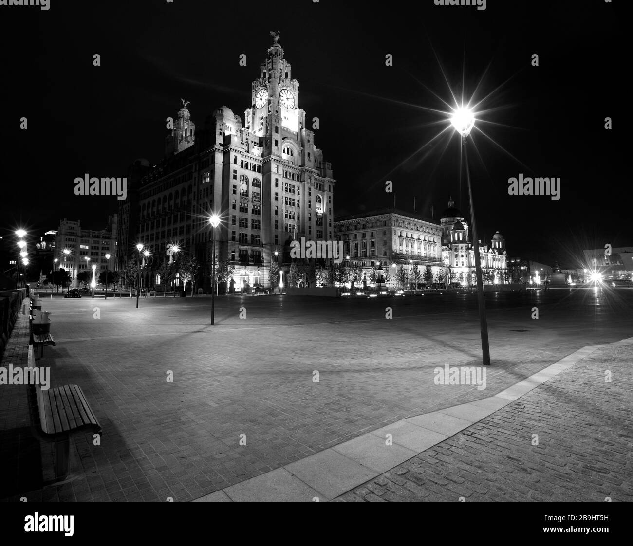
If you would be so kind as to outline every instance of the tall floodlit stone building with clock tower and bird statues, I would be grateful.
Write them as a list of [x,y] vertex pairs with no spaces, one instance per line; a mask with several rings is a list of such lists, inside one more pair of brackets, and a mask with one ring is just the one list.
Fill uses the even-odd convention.
[[[243,123],[222,106],[196,129],[183,101],[163,161],[153,167],[135,162],[137,176],[120,204],[125,225],[120,268],[139,243],[158,256],[154,264],[168,244],[177,245],[197,258],[202,268],[197,287],[210,292],[213,213],[222,220],[215,230],[216,255],[234,266],[238,287],[270,286],[273,256],[285,254],[291,240],[331,240],[336,181],[306,127],[300,98],[299,82],[275,35],[251,84]],[[154,285],[153,272],[144,275]]]

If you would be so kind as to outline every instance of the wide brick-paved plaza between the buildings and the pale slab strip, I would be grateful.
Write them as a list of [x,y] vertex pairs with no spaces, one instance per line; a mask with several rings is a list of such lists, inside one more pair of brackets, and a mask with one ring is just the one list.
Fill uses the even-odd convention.
[[0,450],[13,469],[1,473],[0,499],[197,499],[399,419],[496,394],[633,331],[630,301],[550,292],[487,296],[486,390],[433,382],[436,366],[479,363],[474,294],[221,297],[215,326],[208,298],[141,299],[140,309],[129,299],[43,299],[58,344],[38,364],[51,368],[52,387],[82,387],[103,437],[96,447],[75,436],[70,480],[43,486],[52,457],[30,435],[25,388],[0,387]]

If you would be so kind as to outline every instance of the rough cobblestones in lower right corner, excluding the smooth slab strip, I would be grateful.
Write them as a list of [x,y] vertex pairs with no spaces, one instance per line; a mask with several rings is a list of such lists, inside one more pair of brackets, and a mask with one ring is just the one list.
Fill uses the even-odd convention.
[[633,345],[599,349],[333,502],[631,502],[632,367]]

